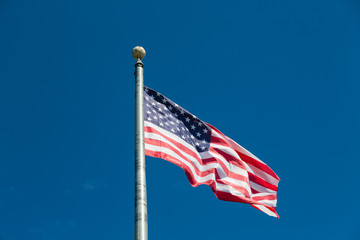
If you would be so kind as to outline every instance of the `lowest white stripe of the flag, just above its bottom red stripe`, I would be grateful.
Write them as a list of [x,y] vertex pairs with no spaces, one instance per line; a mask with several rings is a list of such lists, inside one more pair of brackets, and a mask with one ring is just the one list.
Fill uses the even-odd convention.
[[[186,166],[188,166],[190,168],[192,176],[195,178],[195,181],[199,184],[203,184],[204,182],[209,181],[209,180],[214,180],[214,182],[216,184],[216,190],[222,191],[222,192],[228,192],[228,193],[231,193],[236,196],[245,197],[245,195],[243,193],[234,189],[232,186],[216,182],[214,173],[210,173],[209,175],[207,175],[205,177],[198,176],[193,165],[191,165],[189,162],[182,159],[179,155],[177,155],[175,152],[173,152],[172,150],[170,150],[168,148],[158,147],[155,145],[145,143],[145,149],[150,150],[150,151],[163,152],[163,153],[166,153],[166,154],[176,158],[177,160],[181,161],[183,164],[185,164]],[[244,182],[242,182],[242,183],[244,183]]]

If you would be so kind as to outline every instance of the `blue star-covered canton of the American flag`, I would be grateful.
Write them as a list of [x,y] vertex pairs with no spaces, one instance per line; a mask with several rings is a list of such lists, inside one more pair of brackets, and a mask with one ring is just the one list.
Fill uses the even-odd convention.
[[209,150],[211,128],[170,99],[144,87],[144,120],[169,131],[196,147]]

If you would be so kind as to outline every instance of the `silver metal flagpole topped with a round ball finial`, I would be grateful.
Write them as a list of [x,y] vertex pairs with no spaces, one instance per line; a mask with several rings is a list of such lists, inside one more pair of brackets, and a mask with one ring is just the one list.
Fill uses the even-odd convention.
[[145,145],[144,145],[144,110],[143,110],[143,63],[145,49],[135,47],[132,51],[137,60],[135,64],[135,240],[148,239]]

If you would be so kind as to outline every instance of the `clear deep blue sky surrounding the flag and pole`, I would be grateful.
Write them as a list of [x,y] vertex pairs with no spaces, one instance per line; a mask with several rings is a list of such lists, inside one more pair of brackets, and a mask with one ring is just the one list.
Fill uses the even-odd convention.
[[0,239],[132,239],[134,63],[281,178],[275,219],[147,158],[149,239],[360,239],[360,2],[0,1]]

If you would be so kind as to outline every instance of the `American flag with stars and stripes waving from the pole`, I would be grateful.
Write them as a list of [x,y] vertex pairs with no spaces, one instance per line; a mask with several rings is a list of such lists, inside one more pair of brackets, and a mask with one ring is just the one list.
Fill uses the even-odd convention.
[[260,159],[164,95],[144,87],[145,154],[184,169],[217,198],[276,213],[279,177]]

